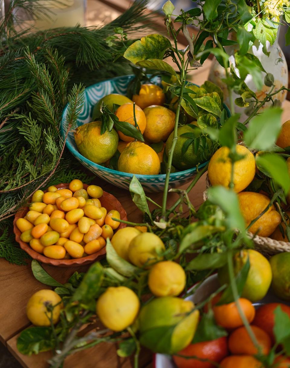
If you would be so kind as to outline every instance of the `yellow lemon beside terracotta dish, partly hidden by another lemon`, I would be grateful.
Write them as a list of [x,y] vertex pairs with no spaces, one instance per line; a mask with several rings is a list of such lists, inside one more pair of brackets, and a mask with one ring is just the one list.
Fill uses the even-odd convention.
[[116,233],[113,235],[111,239],[111,243],[115,248],[115,251],[121,258],[125,259],[128,262],[130,262],[128,257],[128,248],[130,242],[133,238],[135,238],[135,236],[139,234],[141,234],[140,230],[135,229],[135,227],[127,226],[124,227],[123,229],[116,231]]

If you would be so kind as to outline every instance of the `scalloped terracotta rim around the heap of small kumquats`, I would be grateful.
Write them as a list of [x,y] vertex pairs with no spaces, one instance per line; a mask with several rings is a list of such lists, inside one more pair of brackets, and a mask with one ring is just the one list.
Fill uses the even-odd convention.
[[[60,184],[56,184],[54,186],[58,189],[68,189],[68,183],[60,183]],[[88,184],[84,183],[84,189],[86,189],[87,187],[88,187]],[[44,190],[43,192],[46,193],[47,189]],[[103,191],[103,195],[104,194],[105,194],[105,198],[114,199],[114,201],[119,202],[120,209],[122,210],[121,211],[122,213],[120,213],[121,219],[122,220],[127,220],[127,212],[124,209],[124,207],[122,206],[122,204],[120,203],[120,201],[116,197],[114,197],[113,194],[110,194],[106,191]],[[31,199],[31,198],[29,198],[29,199]],[[28,211],[29,211],[29,206],[25,206],[25,207],[21,207],[20,209],[18,209],[18,211],[15,213],[14,220],[13,220],[13,232],[15,234],[15,241],[17,241],[17,243],[20,244],[20,248],[22,250],[24,250],[29,256],[31,256],[32,259],[36,259],[37,261],[48,264],[48,265],[60,266],[60,267],[70,267],[70,266],[83,266],[83,265],[92,263],[92,262],[96,261],[98,258],[101,258],[106,254],[106,246],[101,248],[96,253],[89,254],[85,257],[72,258],[72,259],[64,259],[64,258],[54,259],[54,258],[46,257],[45,255],[36,252],[35,250],[33,250],[31,248],[29,243],[26,243],[25,241],[22,241],[20,239],[21,231],[16,226],[16,221],[19,218],[24,217],[25,214]],[[123,227],[126,227],[126,226],[127,225],[125,223],[120,223],[120,226],[118,227],[118,229],[122,229]]]

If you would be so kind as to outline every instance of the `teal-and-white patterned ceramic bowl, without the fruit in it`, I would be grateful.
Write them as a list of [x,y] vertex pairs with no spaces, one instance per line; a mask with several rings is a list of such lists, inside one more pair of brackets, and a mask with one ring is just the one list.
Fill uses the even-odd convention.
[[[90,123],[92,119],[93,107],[101,98],[110,93],[120,93],[125,95],[127,92],[127,86],[134,75],[124,75],[122,77],[116,77],[112,79],[107,79],[96,84],[93,84],[85,89],[85,101],[82,111],[79,114],[77,124],[82,125]],[[154,84],[160,84],[161,79],[159,77],[152,78]],[[230,116],[229,110],[226,106],[224,108],[227,110]],[[64,108],[62,121],[61,121],[61,133],[64,136],[64,126],[67,115],[67,107]],[[108,183],[114,184],[119,188],[129,189],[130,182],[132,180],[133,174],[123,173],[121,171],[108,169],[102,165],[98,165],[84,156],[82,156],[77,149],[75,144],[74,134],[70,132],[67,137],[66,146],[73,156],[81,162],[87,169],[91,170],[101,179],[107,181]],[[206,165],[202,163],[198,166],[198,169],[202,169]],[[197,168],[194,167],[189,170],[179,171],[177,173],[170,174],[169,188],[177,188],[183,184],[188,183],[192,180],[197,172]],[[160,175],[136,175],[142,187],[146,192],[162,192],[165,183],[165,174]]]

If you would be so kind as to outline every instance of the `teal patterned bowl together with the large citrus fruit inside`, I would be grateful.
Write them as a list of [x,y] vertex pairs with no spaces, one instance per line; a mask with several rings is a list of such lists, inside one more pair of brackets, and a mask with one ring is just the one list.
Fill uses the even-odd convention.
[[[133,80],[133,75],[126,75],[86,88],[84,105],[77,120],[78,127],[68,133],[66,146],[87,169],[109,183],[129,189],[135,175],[146,192],[160,192],[164,188],[166,163],[173,141],[177,97],[174,99],[174,96],[172,98],[167,96],[168,93],[163,93],[161,78],[153,77],[141,85],[138,94],[128,98],[128,86]],[[217,92],[212,92],[216,87],[210,82],[200,88],[193,84],[188,85],[188,88],[192,88],[194,98],[214,95],[220,109],[225,109],[229,116],[229,110],[222,102],[222,92],[221,97]],[[111,113],[110,116],[102,114],[103,106]],[[201,115],[211,115],[200,110]],[[66,107],[61,123],[63,136],[66,135],[67,113]],[[117,126],[110,127],[112,117],[117,120]],[[105,131],[104,120],[110,127]],[[142,138],[134,139],[127,135],[124,126],[121,128],[124,122],[134,125]],[[197,122],[182,110],[169,188],[179,187],[192,180],[218,148],[208,135],[199,137],[197,130]]]

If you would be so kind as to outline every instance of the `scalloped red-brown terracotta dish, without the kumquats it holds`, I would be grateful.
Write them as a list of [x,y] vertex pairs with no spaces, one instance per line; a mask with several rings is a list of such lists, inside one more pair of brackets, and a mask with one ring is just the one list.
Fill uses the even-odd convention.
[[[56,188],[60,189],[68,189],[68,184],[58,184],[54,185]],[[87,184],[84,184],[84,189],[88,188]],[[45,190],[44,192],[47,192]],[[109,212],[112,209],[116,209],[120,212],[121,220],[127,220],[127,213],[121,203],[118,201],[116,197],[114,197],[112,194],[103,192],[102,197],[99,198],[101,204],[103,207],[107,209]],[[102,248],[99,252],[90,254],[88,256],[82,257],[82,258],[73,258],[73,259],[53,259],[48,258],[44,256],[43,254],[40,254],[36,251],[34,251],[28,243],[25,243],[20,239],[21,231],[16,226],[16,221],[20,217],[24,217],[26,213],[29,211],[28,207],[21,208],[17,211],[14,221],[13,221],[13,231],[15,234],[15,240],[20,244],[20,248],[23,249],[26,253],[28,253],[33,259],[36,259],[39,262],[47,263],[49,265],[53,266],[60,266],[60,267],[70,267],[70,266],[80,266],[80,265],[86,265],[88,263],[92,263],[93,261],[96,261],[99,258],[103,258],[103,256],[106,254],[106,247]],[[126,227],[126,224],[121,223],[118,229],[122,229],[123,227]]]

